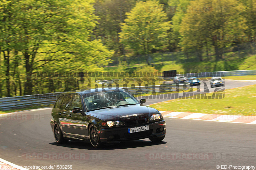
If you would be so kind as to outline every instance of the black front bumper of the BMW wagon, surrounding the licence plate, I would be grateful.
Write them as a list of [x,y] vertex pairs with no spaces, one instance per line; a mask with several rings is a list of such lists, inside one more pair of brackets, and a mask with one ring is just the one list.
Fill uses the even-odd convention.
[[[128,133],[128,128],[140,127],[149,125],[149,130]],[[164,130],[160,131],[163,127]],[[123,126],[108,129],[99,129],[100,141],[103,143],[119,143],[125,140],[138,140],[148,137],[161,137],[166,134],[165,121],[149,122],[145,124],[137,124],[133,126]]]

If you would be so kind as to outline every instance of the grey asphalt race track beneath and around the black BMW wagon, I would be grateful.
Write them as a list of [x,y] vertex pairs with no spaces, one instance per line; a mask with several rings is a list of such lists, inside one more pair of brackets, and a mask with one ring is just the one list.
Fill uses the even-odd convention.
[[[225,89],[230,89],[256,81],[225,83]],[[148,99],[146,104],[160,101]],[[256,166],[253,124],[165,118],[167,135],[160,143],[142,139],[94,149],[80,141],[57,145],[50,127],[51,109],[0,117],[0,158],[19,166],[72,165],[75,170]]]

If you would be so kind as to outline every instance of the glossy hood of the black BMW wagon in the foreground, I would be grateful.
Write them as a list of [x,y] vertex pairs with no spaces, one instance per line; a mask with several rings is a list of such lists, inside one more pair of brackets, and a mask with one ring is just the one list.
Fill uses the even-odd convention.
[[149,117],[158,113],[158,110],[152,107],[144,106],[142,104],[111,107],[88,112],[89,115],[98,117],[103,121],[124,120],[133,117],[134,114],[136,114],[138,117]]

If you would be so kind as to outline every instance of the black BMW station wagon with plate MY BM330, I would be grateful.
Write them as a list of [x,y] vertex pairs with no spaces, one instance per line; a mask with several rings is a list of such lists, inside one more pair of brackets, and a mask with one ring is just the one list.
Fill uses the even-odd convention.
[[145,102],[121,88],[63,93],[52,109],[55,141],[80,139],[95,148],[144,138],[159,142],[166,134],[165,121],[158,110],[142,104]]

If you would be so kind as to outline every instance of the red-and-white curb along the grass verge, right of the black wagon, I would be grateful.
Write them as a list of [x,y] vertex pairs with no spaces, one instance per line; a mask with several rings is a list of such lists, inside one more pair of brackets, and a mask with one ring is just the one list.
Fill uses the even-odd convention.
[[256,124],[256,116],[216,115],[216,114],[170,112],[170,111],[160,111],[160,113],[164,117],[172,117],[172,118],[180,118],[180,119],[194,119],[194,120],[214,121],[214,122]]

